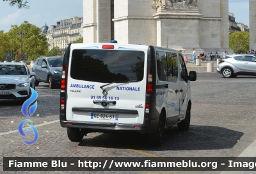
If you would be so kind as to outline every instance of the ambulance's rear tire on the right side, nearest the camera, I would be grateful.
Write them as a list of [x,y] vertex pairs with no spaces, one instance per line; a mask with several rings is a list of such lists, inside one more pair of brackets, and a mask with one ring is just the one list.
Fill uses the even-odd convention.
[[159,147],[163,144],[163,138],[164,138],[164,117],[163,117],[163,114],[161,113],[159,117],[157,131],[156,133],[148,134],[148,139],[152,146]]

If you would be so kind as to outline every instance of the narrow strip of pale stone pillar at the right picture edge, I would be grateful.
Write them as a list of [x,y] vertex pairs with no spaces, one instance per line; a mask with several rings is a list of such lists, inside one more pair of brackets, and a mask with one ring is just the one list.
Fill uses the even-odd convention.
[[256,1],[249,0],[250,6],[250,50],[256,50]]

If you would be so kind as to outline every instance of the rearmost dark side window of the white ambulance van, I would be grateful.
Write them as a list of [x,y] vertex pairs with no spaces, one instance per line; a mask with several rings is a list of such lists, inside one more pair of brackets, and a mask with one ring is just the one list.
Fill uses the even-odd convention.
[[156,52],[157,75],[161,81],[167,81],[164,64],[166,64],[165,52]]

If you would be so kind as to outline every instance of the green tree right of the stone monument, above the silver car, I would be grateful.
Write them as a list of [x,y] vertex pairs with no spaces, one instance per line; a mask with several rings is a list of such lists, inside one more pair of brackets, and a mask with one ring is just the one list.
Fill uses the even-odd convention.
[[250,50],[250,33],[248,31],[236,31],[229,35],[229,47],[234,53],[246,53]]

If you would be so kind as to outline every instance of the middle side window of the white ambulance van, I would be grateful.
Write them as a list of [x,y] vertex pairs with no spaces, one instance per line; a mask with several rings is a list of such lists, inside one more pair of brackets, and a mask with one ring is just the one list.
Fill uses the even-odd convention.
[[176,82],[178,76],[178,64],[176,53],[167,53],[167,66],[168,82]]

